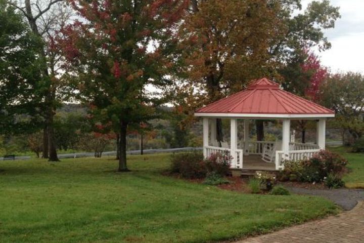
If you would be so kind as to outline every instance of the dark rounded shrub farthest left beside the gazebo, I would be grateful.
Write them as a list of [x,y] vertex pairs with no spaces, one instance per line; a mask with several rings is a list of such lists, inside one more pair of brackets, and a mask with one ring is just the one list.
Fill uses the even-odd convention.
[[179,173],[183,178],[204,178],[207,168],[202,153],[176,153],[171,157],[171,172]]

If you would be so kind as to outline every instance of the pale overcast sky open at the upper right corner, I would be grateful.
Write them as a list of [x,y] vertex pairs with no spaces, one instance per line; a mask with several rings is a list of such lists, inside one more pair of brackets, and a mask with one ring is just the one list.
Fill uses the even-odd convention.
[[[303,8],[311,0],[303,0]],[[333,6],[340,7],[341,19],[334,29],[326,30],[332,48],[317,52],[322,64],[336,71],[364,73],[364,0],[331,0]]]

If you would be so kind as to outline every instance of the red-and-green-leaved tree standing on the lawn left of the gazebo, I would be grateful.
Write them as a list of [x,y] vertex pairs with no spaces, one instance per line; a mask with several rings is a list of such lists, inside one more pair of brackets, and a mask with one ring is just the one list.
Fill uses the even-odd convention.
[[160,98],[148,95],[145,86],[164,84],[161,77],[170,63],[161,55],[161,44],[188,1],[70,3],[82,22],[75,21],[61,32],[67,70],[74,74],[82,100],[93,107],[90,113],[102,123],[111,121],[120,138],[118,170],[128,171],[127,127],[155,117],[153,106]]

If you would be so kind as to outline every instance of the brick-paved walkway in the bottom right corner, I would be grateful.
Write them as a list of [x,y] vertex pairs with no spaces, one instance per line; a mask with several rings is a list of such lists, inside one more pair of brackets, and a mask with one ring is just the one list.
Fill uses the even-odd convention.
[[236,243],[362,243],[364,242],[364,201],[337,217],[308,222]]

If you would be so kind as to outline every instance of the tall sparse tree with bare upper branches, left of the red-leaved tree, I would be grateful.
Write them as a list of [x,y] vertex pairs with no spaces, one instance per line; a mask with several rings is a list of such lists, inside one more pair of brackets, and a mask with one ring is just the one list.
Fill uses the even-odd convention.
[[[8,1],[17,8],[27,20],[34,35],[38,36],[40,48],[39,60],[43,64],[41,69],[42,85],[44,93],[43,107],[39,113],[43,116],[43,157],[49,157],[50,161],[58,161],[57,146],[54,135],[54,115],[60,106],[65,93],[70,94],[61,77],[62,56],[54,38],[59,30],[69,20],[71,12],[62,5],[63,0],[31,1],[24,0],[24,4],[16,4]],[[66,89],[64,89],[66,88]],[[65,92],[64,92],[65,91]]]

